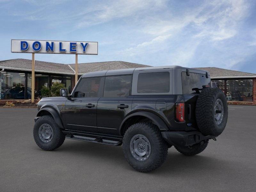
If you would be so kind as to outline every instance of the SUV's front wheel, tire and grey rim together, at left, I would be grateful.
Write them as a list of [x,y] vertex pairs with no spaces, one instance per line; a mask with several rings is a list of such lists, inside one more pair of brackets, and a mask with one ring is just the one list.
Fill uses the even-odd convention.
[[50,115],[41,116],[37,119],[33,136],[38,147],[46,151],[59,148],[65,140],[65,134]]

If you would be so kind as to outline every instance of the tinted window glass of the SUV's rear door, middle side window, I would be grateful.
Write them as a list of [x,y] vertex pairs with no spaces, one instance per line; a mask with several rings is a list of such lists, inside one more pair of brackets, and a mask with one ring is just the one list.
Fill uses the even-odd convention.
[[125,97],[130,95],[131,75],[106,76],[103,97]]

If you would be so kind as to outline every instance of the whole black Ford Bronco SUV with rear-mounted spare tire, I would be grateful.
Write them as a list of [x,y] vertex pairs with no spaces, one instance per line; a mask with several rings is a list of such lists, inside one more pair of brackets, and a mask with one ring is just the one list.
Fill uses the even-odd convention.
[[186,156],[201,153],[228,118],[209,72],[180,66],[90,72],[60,95],[38,102],[33,134],[40,148],[54,150],[65,138],[123,145],[140,172],[161,166],[172,146]]

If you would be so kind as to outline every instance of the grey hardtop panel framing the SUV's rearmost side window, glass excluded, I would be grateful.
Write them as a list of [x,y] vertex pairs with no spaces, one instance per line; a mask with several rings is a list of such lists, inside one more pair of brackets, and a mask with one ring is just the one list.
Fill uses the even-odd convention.
[[[170,74],[170,82],[169,82],[169,92],[160,92],[160,93],[138,93],[138,78],[140,73],[156,73],[156,72],[169,72]],[[141,70],[141,71],[134,71],[133,78],[132,78],[132,93],[131,95],[172,95],[172,68],[168,69],[149,69],[149,70]]]

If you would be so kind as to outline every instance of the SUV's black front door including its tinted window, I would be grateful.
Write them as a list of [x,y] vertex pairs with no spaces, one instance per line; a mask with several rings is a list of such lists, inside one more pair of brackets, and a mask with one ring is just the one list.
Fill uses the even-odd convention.
[[66,101],[66,129],[97,132],[97,103],[100,99],[100,80],[103,77],[82,78]]

